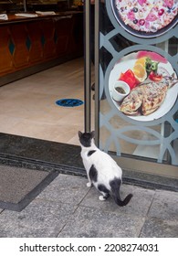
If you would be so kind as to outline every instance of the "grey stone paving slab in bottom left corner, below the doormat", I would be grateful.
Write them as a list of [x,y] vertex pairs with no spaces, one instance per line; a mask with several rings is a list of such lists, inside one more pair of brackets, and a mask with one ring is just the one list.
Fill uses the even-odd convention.
[[37,199],[21,212],[5,210],[0,214],[0,237],[57,237],[74,210],[68,204]]

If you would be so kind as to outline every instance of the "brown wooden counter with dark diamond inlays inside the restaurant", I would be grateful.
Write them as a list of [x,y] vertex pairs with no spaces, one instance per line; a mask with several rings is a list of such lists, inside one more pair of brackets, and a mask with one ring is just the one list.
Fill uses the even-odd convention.
[[82,12],[0,21],[0,85],[82,54]]

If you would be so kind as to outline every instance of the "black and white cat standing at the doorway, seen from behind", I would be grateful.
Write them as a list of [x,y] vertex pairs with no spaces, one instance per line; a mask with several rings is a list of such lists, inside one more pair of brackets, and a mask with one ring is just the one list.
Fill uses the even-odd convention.
[[122,176],[120,166],[110,155],[102,152],[95,145],[94,132],[79,132],[79,142],[81,145],[80,155],[89,179],[87,187],[91,187],[93,184],[99,190],[102,194],[99,196],[99,200],[106,200],[111,196],[120,207],[126,206],[130,202],[132,194],[125,197],[123,201],[120,199]]

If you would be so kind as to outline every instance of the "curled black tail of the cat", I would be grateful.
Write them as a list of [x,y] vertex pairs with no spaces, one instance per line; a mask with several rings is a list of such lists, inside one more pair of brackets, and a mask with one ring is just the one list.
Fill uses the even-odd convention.
[[112,180],[110,182],[111,193],[112,193],[112,197],[113,197],[114,201],[120,207],[124,207],[130,202],[131,197],[133,197],[133,195],[129,194],[127,197],[125,197],[124,200],[121,200],[121,198],[120,198],[120,185],[121,185],[121,180],[119,178],[115,178],[114,180]]

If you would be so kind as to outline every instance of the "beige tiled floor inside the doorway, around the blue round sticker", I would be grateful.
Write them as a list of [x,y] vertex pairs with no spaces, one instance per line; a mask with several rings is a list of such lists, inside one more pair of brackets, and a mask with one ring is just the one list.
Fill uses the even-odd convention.
[[56,101],[64,98],[84,100],[82,58],[0,87],[0,133],[79,144],[84,105],[58,106]]

